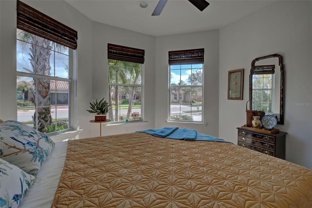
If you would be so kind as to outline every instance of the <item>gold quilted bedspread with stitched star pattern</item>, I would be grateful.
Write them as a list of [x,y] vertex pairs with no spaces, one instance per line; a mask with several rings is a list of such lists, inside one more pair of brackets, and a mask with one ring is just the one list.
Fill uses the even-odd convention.
[[312,207],[312,171],[222,142],[71,140],[51,207]]

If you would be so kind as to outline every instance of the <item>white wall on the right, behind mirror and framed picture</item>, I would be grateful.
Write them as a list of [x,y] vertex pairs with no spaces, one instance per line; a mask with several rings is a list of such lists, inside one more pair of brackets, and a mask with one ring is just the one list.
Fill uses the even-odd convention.
[[[312,168],[311,2],[275,2],[220,30],[219,137],[237,143],[236,127],[246,123],[251,61],[279,53],[285,64],[286,160]],[[244,100],[227,100],[227,72],[245,69]]]

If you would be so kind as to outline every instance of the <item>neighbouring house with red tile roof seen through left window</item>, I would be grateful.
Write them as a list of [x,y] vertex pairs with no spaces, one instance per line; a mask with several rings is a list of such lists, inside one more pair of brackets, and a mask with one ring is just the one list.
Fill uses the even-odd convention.
[[[17,82],[17,86],[20,82],[25,82],[25,81],[19,81]],[[27,81],[32,87],[34,87],[34,82],[33,81]],[[55,97],[56,96],[56,97]],[[68,105],[68,97],[69,97],[69,92],[68,92],[68,82],[64,81],[55,81],[55,80],[50,80],[50,102],[51,105]],[[56,98],[56,99],[55,99]],[[17,100],[28,100],[31,102],[35,101],[35,98],[30,92],[30,90],[27,90],[24,93],[24,98],[23,98],[23,92],[18,90],[17,91]],[[55,103],[56,101],[56,103]]]

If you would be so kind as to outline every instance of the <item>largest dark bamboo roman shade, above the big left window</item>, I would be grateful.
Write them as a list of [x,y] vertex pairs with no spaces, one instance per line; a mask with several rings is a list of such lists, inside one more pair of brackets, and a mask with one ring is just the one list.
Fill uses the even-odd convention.
[[77,48],[77,31],[18,0],[17,28],[71,49]]

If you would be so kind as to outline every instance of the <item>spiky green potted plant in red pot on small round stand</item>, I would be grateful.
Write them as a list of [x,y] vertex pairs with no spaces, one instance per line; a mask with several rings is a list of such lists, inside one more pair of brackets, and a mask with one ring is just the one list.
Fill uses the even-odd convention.
[[104,98],[100,100],[100,102],[96,101],[91,103],[90,102],[90,108],[91,110],[87,110],[89,113],[95,113],[95,121],[106,121],[106,114],[111,109],[112,105],[109,105]]

